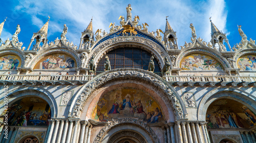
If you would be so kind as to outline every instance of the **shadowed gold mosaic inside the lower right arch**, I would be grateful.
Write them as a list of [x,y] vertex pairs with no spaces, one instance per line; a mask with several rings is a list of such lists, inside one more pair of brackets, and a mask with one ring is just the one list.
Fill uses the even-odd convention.
[[206,122],[208,128],[249,128],[256,125],[256,115],[237,101],[218,99],[208,107]]

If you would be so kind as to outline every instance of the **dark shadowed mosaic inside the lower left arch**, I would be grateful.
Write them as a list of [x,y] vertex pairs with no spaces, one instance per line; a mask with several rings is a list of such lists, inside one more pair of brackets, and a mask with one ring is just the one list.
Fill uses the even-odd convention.
[[8,111],[9,126],[47,126],[51,119],[49,104],[37,97],[20,99],[10,105]]

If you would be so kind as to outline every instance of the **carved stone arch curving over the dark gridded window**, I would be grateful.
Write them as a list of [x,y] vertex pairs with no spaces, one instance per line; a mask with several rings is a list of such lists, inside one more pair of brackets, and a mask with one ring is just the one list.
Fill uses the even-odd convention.
[[157,56],[157,59],[159,60],[161,65],[164,64],[163,62],[164,56],[166,56],[170,61],[167,52],[159,44],[155,43],[154,41],[148,40],[142,37],[121,36],[121,37],[106,40],[98,44],[95,48],[93,48],[86,63],[88,64],[92,56],[94,56],[94,61],[97,62],[99,61],[100,56],[104,52],[108,51],[109,49],[125,43],[131,45],[132,42],[136,43],[136,45],[141,45],[142,47],[146,47],[147,50],[150,50],[151,52],[153,52]]

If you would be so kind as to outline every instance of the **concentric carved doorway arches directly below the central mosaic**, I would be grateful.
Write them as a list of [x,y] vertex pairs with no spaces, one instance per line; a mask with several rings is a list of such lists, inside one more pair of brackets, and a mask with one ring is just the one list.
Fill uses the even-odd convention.
[[[114,119],[113,121],[109,122],[99,131],[94,142],[95,143],[101,142],[103,137],[106,135],[106,133],[108,133],[108,131],[110,131],[111,129],[115,128],[116,126],[120,126],[122,124],[132,124],[132,125],[139,126],[140,128],[144,129],[150,135],[153,142],[155,142],[155,143],[160,142],[156,133],[153,131],[153,129],[150,126],[147,125],[146,122],[143,122],[143,121],[140,121],[137,119],[132,119],[132,118]],[[141,142],[145,142],[145,139],[141,135],[139,135],[136,132],[132,132],[132,131],[130,131],[130,132],[125,131],[125,134],[117,133],[116,135],[112,136],[108,142],[114,142],[117,138],[119,138],[121,136],[125,136],[125,135],[133,136],[133,137],[137,138],[138,140],[140,140]]]

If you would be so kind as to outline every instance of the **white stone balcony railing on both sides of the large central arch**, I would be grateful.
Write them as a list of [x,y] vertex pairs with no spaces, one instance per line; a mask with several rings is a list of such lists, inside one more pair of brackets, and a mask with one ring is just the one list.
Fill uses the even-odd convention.
[[[91,80],[94,75],[0,75],[0,82],[74,82],[84,83]],[[163,76],[163,79],[171,84],[232,84],[232,85],[256,85],[256,76]]]

